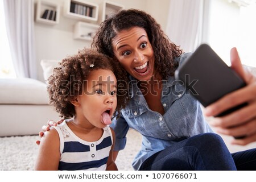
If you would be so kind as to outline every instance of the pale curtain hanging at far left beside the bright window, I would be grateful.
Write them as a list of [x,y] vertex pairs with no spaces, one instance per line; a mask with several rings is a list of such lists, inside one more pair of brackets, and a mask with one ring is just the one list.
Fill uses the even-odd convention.
[[17,77],[36,78],[34,1],[2,0],[11,57]]

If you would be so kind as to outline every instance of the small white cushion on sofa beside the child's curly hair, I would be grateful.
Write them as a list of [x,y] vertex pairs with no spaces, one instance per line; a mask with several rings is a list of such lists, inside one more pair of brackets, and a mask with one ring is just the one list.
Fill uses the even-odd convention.
[[41,60],[40,64],[43,68],[43,75],[45,81],[49,78],[49,76],[52,75],[53,69],[60,66],[59,61],[47,59]]

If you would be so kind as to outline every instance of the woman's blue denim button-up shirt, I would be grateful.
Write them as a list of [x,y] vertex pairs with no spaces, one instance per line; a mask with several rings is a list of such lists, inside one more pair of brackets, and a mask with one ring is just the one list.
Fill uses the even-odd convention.
[[[189,55],[191,54],[183,53],[176,57],[175,61],[179,61],[181,65]],[[121,117],[114,119],[110,125],[115,131],[115,151],[125,148],[129,128],[142,134],[142,148],[133,161],[135,170],[138,170],[148,157],[180,140],[212,132],[204,119],[199,102],[185,92],[184,85],[174,77],[170,76],[168,80],[163,81],[163,115],[148,107],[136,82],[131,78],[131,100],[125,109],[121,110]]]

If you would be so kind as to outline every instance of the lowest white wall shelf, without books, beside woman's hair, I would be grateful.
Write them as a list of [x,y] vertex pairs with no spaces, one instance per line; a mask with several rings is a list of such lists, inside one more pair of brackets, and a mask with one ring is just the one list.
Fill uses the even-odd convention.
[[98,24],[77,22],[74,27],[73,38],[92,41],[98,27]]

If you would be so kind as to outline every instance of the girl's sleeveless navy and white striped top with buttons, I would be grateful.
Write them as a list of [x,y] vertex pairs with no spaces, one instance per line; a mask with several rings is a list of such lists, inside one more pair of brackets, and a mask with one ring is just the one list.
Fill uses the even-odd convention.
[[60,138],[59,170],[100,170],[106,169],[109,152],[113,144],[109,126],[103,130],[102,137],[95,142],[87,142],[77,137],[69,129],[66,121],[53,127]]

